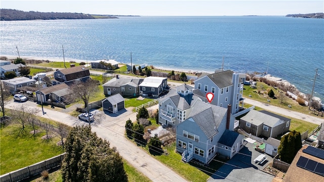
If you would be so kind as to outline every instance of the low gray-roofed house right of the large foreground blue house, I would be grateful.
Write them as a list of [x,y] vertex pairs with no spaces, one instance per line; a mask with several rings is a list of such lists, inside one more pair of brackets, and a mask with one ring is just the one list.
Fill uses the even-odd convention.
[[279,134],[289,131],[289,118],[268,111],[251,110],[240,118],[240,128],[255,136],[276,138]]

